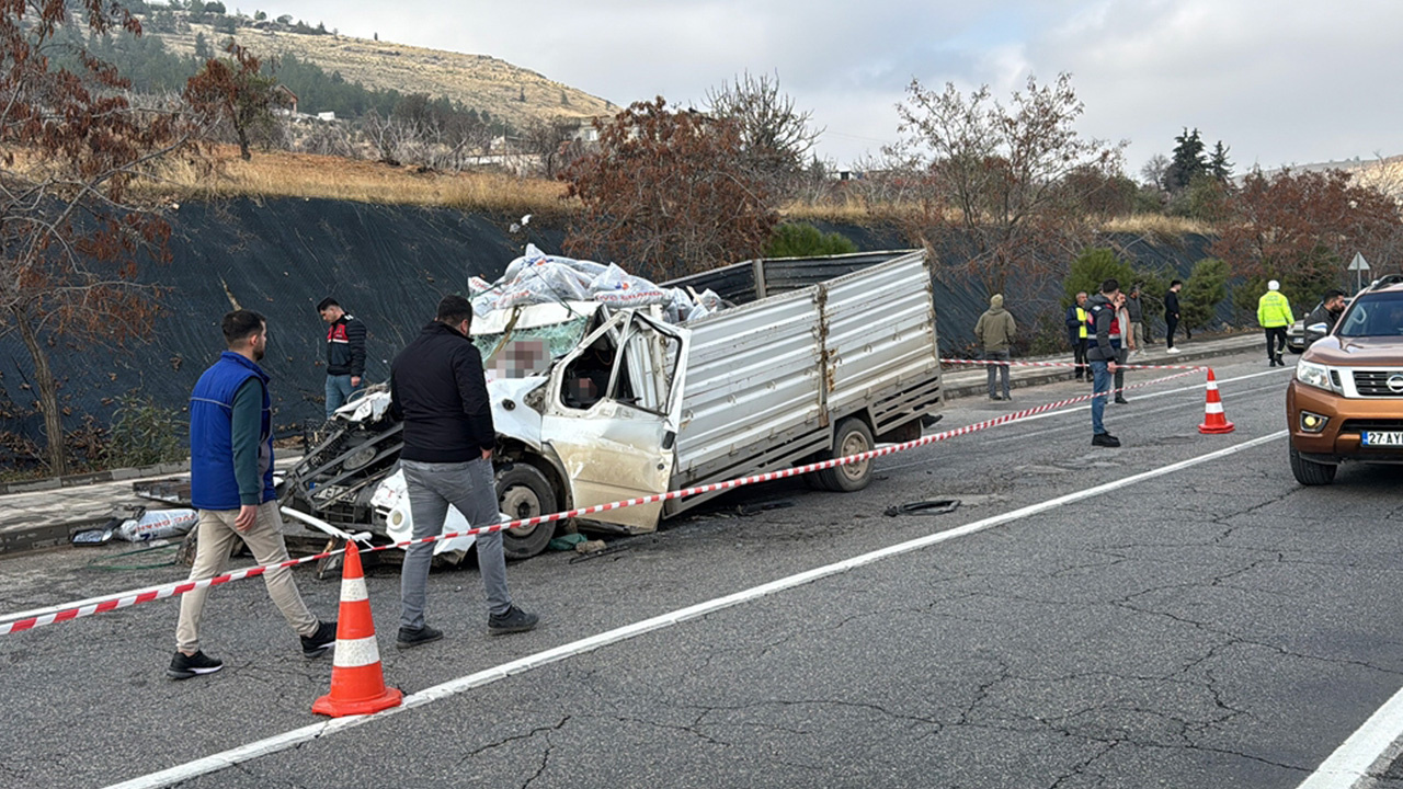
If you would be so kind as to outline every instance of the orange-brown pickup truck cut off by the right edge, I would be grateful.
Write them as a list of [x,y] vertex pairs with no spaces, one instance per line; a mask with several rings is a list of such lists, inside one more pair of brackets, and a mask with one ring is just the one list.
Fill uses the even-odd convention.
[[1305,350],[1287,423],[1301,484],[1330,484],[1345,460],[1403,463],[1403,275],[1361,291]]

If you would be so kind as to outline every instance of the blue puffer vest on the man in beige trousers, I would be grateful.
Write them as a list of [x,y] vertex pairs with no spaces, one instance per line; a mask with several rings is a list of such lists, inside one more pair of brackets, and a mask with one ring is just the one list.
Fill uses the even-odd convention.
[[199,376],[189,396],[189,493],[199,510],[239,510],[239,482],[234,479],[233,407],[234,394],[250,378],[264,382],[260,460],[267,455],[261,501],[276,497],[272,486],[272,399],[268,373],[233,351],[224,351]]

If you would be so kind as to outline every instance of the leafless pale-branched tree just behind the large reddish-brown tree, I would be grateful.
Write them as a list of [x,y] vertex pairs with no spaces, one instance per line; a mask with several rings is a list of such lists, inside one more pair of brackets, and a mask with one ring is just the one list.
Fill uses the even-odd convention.
[[810,124],[812,111],[800,111],[780,91],[779,76],[744,72],[735,83],[706,94],[709,112],[735,122],[741,133],[741,156],[772,190],[786,190],[804,170],[804,163],[824,129]]

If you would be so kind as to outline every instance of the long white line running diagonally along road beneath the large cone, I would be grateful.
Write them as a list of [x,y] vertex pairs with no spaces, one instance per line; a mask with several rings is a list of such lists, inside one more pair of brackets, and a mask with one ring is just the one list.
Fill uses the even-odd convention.
[[904,553],[911,553],[911,552],[915,552],[915,550],[920,550],[920,549],[929,548],[932,545],[939,545],[941,542],[948,542],[951,539],[957,539],[957,538],[961,538],[961,536],[968,536],[968,535],[972,535],[972,533],[978,533],[978,532],[982,532],[982,531],[986,531],[986,529],[992,529],[993,526],[1000,526],[1003,524],[1012,524],[1014,521],[1020,521],[1020,519],[1031,517],[1031,515],[1047,512],[1049,510],[1056,510],[1058,507],[1065,507],[1068,504],[1073,504],[1073,503],[1078,503],[1078,501],[1085,501],[1087,498],[1096,498],[1096,497],[1103,496],[1106,493],[1110,493],[1113,490],[1120,490],[1122,487],[1129,487],[1132,484],[1136,484],[1136,483],[1141,483],[1141,482],[1145,482],[1145,480],[1149,480],[1149,479],[1162,477],[1162,476],[1166,476],[1166,475],[1181,472],[1181,470],[1193,468],[1193,466],[1198,466],[1198,465],[1202,465],[1202,463],[1209,463],[1212,460],[1228,458],[1230,455],[1236,455],[1237,452],[1253,449],[1256,446],[1261,446],[1264,444],[1270,444],[1270,442],[1277,441],[1280,438],[1285,438],[1287,432],[1288,431],[1281,430],[1281,431],[1273,432],[1270,435],[1263,435],[1260,438],[1253,438],[1253,439],[1244,441],[1242,444],[1235,444],[1232,446],[1226,446],[1226,448],[1218,449],[1215,452],[1208,452],[1207,455],[1198,455],[1197,458],[1190,458],[1187,460],[1180,460],[1177,463],[1169,463],[1166,466],[1160,466],[1157,469],[1150,469],[1148,472],[1141,472],[1138,475],[1128,476],[1128,477],[1124,477],[1124,479],[1118,479],[1118,480],[1114,480],[1114,482],[1108,482],[1106,484],[1099,484],[1096,487],[1089,487],[1086,490],[1079,490],[1076,493],[1069,493],[1066,496],[1059,496],[1056,498],[1049,498],[1049,500],[1041,501],[1038,504],[1030,504],[1027,507],[1021,507],[1019,510],[1013,510],[1012,512],[1005,512],[1002,515],[993,515],[993,517],[985,518],[982,521],[975,521],[972,524],[965,524],[962,526],[955,526],[955,528],[953,528],[950,531],[944,531],[944,532],[934,533],[934,535],[926,535],[923,538],[918,538],[918,539],[913,539],[913,541],[908,541],[908,542],[902,542],[902,543],[892,545],[892,546],[888,546],[888,548],[882,548],[880,550],[873,550],[870,553],[863,553],[860,556],[853,556],[850,559],[845,559],[843,562],[836,562],[833,564],[826,564],[824,567],[815,567],[815,569],[807,570],[804,573],[798,573],[798,574],[794,574],[794,576],[779,578],[779,580],[770,581],[767,584],[762,584],[762,585],[758,585],[758,587],[751,587],[748,590],[738,591],[735,594],[730,594],[730,595],[725,595],[725,597],[713,598],[713,599],[709,599],[706,602],[699,602],[696,605],[689,605],[686,608],[679,608],[678,611],[672,611],[669,614],[662,614],[662,615],[654,616],[651,619],[644,619],[641,622],[634,622],[633,625],[624,625],[623,628],[616,628],[613,630],[606,630],[606,632],[598,633],[595,636],[579,639],[578,642],[571,642],[568,644],[561,644],[558,647],[549,649],[546,651],[539,651],[536,654],[529,654],[526,657],[522,657],[522,658],[518,658],[518,660],[513,660],[513,661],[509,661],[509,663],[504,663],[501,665],[494,665],[492,668],[487,668],[487,670],[478,671],[476,674],[469,674],[466,677],[459,677],[457,679],[450,679],[448,682],[443,682],[441,685],[435,685],[432,688],[425,688],[424,691],[419,691],[417,694],[411,694],[411,695],[404,696],[404,703],[401,706],[391,708],[391,709],[387,709],[384,712],[377,712],[375,715],[356,715],[356,716],[349,716],[349,717],[338,717],[338,719],[328,720],[328,722],[324,722],[324,723],[314,723],[311,726],[304,726],[302,729],[293,729],[292,731],[285,731],[282,734],[276,734],[276,736],[268,737],[265,740],[258,740],[255,743],[248,743],[246,745],[240,745],[237,748],[231,748],[231,750],[227,750],[227,751],[223,751],[223,752],[219,752],[219,754],[213,754],[213,755],[209,755],[209,757],[205,757],[205,758],[199,758],[199,760],[195,760],[195,761],[191,761],[191,762],[187,762],[187,764],[175,765],[175,767],[173,767],[170,769],[163,769],[160,772],[153,772],[150,775],[143,775],[140,778],[133,778],[133,779],[125,781],[122,783],[114,783],[108,789],[156,789],[156,788],[163,788],[163,786],[171,786],[171,785],[180,783],[182,781],[189,781],[189,779],[201,776],[201,775],[208,775],[208,774],[212,774],[212,772],[219,772],[220,769],[230,768],[230,767],[233,767],[236,764],[243,764],[243,762],[247,762],[247,761],[253,761],[255,758],[265,757],[265,755],[269,755],[269,754],[276,754],[279,751],[286,751],[289,748],[293,748],[293,747],[296,747],[296,745],[299,745],[302,743],[307,743],[310,740],[324,738],[324,737],[328,737],[328,736],[335,734],[338,731],[345,731],[347,729],[354,729],[354,727],[361,726],[363,723],[383,720],[386,717],[398,715],[401,712],[407,712],[407,710],[411,710],[411,709],[415,709],[415,708],[419,708],[419,706],[424,706],[424,705],[434,703],[436,701],[442,701],[442,699],[448,699],[448,698],[456,696],[456,695],[463,694],[466,691],[470,691],[473,688],[480,688],[483,685],[488,685],[491,682],[497,682],[498,679],[505,679],[506,677],[511,677],[513,674],[522,674],[525,671],[530,671],[533,668],[540,668],[542,665],[549,665],[551,663],[558,663],[561,660],[565,660],[565,658],[570,658],[570,657],[574,657],[574,656],[578,656],[578,654],[584,654],[586,651],[593,651],[593,650],[605,647],[605,646],[610,646],[610,644],[616,644],[616,643],[626,642],[626,640],[630,640],[630,639],[636,639],[638,636],[643,636],[645,633],[651,633],[654,630],[662,630],[665,628],[672,628],[675,625],[680,625],[682,622],[687,622],[687,621],[696,619],[699,616],[706,616],[706,615],[710,615],[710,614],[716,614],[717,611],[732,608],[732,606],[741,605],[744,602],[751,602],[751,601],[760,599],[763,597],[769,597],[769,595],[773,595],[773,594],[779,594],[781,591],[791,590],[791,588],[796,588],[796,587],[800,587],[800,585],[804,585],[804,584],[811,584],[814,581],[818,581],[821,578],[826,578],[829,576],[836,576],[839,573],[846,573],[849,570],[854,570],[854,569],[863,567],[866,564],[873,564],[875,562],[881,562],[882,559],[890,559],[892,556],[901,556]]

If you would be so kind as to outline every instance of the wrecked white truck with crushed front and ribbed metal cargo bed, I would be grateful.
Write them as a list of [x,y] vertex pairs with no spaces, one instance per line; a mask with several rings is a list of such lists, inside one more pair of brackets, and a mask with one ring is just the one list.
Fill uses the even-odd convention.
[[[725,309],[679,326],[659,307],[560,300],[473,321],[504,517],[564,511],[852,455],[920,435],[941,404],[932,272],[922,251],[756,260],[669,286]],[[289,475],[283,504],[345,531],[408,539],[389,393],[338,413]],[[871,463],[812,475],[866,487]],[[648,532],[709,496],[599,512],[585,528]],[[506,556],[546,549],[558,524],[509,529]],[[449,510],[445,531],[467,528]],[[457,552],[471,538],[439,543]]]

